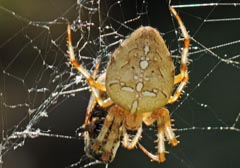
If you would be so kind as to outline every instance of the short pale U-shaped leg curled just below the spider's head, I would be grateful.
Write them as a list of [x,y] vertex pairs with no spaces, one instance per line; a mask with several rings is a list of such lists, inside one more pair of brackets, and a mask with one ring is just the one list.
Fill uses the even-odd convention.
[[137,133],[132,139],[129,138],[129,135],[125,127],[123,127],[122,131],[123,131],[123,142],[122,142],[123,146],[129,150],[133,149],[137,145],[137,142],[139,141],[139,139],[141,138],[142,126],[137,129]]

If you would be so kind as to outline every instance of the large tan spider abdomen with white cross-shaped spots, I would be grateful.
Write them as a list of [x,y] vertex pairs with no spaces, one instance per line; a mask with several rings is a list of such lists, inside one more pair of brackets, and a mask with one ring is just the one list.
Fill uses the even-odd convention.
[[174,85],[171,54],[152,27],[135,30],[114,51],[106,73],[108,96],[131,113],[167,104]]

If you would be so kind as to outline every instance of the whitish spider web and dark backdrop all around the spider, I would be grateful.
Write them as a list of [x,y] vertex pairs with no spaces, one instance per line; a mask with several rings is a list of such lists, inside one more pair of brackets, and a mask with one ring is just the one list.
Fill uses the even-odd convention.
[[[120,148],[109,165],[85,156],[76,130],[89,99],[85,79],[71,68],[66,27],[76,57],[93,72],[106,69],[111,52],[141,25],[157,28],[176,70],[181,31],[166,1],[71,0],[0,2],[0,167],[239,167],[240,4],[171,3],[191,36],[190,81],[167,108],[180,144],[167,145],[163,164],[139,149]],[[154,152],[156,126],[141,143]]]

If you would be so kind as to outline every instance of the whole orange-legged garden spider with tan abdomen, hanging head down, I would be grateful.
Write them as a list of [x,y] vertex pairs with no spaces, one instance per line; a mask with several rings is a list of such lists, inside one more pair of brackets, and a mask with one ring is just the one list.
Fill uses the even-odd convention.
[[[98,155],[99,160],[111,162],[122,140],[125,148],[133,149],[138,145],[152,160],[163,162],[166,153],[165,139],[172,146],[179,143],[171,127],[169,111],[164,106],[179,98],[188,81],[190,38],[175,9],[171,6],[169,9],[184,37],[180,73],[176,76],[171,54],[159,32],[152,27],[142,26],[113,52],[106,72],[95,80],[95,75],[91,75],[75,59],[71,27],[68,25],[70,63],[87,79],[92,91],[83,126],[88,130],[84,132],[85,151],[88,155]],[[174,89],[176,84],[178,87]],[[98,117],[92,117],[96,106],[107,114],[101,118],[103,125],[99,134],[93,137],[90,134],[94,133],[94,128],[89,131],[89,127],[96,126],[95,121],[99,120]],[[158,126],[157,154],[152,154],[138,141],[142,133],[142,123],[149,126],[155,121]],[[136,134],[131,137],[128,131],[135,131]]]

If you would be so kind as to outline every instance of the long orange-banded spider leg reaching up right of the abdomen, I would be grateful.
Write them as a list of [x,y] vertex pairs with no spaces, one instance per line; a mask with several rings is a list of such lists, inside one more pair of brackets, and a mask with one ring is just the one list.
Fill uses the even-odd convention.
[[176,20],[180,26],[180,29],[182,31],[183,37],[184,37],[183,51],[181,54],[180,74],[178,74],[174,77],[174,84],[178,84],[178,83],[180,83],[180,84],[179,84],[178,88],[176,89],[175,93],[173,94],[173,96],[171,96],[170,99],[168,100],[168,103],[173,103],[179,98],[183,88],[185,87],[185,85],[187,84],[187,81],[188,81],[188,70],[187,70],[188,59],[187,59],[187,56],[188,56],[188,50],[189,50],[189,44],[190,44],[190,37],[187,33],[186,27],[184,26],[180,16],[176,12],[176,10],[172,6],[170,6],[169,9],[170,9],[171,13],[174,15],[174,17],[176,18]]

